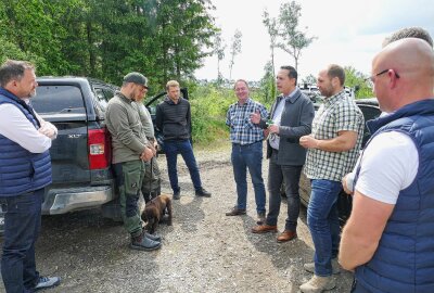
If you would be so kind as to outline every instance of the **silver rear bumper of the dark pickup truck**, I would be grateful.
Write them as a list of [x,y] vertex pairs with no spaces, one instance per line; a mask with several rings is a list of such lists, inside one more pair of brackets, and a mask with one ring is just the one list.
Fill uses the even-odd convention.
[[42,215],[59,215],[100,207],[114,199],[112,186],[48,189],[42,204]]

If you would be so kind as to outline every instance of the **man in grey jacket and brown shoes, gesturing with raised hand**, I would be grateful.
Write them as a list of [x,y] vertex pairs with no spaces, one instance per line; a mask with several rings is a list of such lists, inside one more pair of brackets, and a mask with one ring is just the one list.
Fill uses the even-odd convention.
[[306,150],[299,144],[301,137],[310,133],[315,115],[314,104],[297,87],[297,72],[292,66],[282,66],[277,75],[277,88],[281,94],[271,106],[272,123],[261,118],[259,113],[252,115],[252,122],[268,128],[267,140],[269,212],[266,221],[252,228],[253,233],[276,232],[281,205],[280,190],[284,183],[288,199],[288,218],[284,230],[277,238],[286,242],[297,237],[299,214],[298,183]]

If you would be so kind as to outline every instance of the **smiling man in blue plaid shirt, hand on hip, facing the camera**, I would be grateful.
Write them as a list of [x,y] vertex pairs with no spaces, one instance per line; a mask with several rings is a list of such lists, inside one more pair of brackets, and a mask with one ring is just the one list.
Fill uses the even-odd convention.
[[246,169],[252,177],[255,190],[256,212],[258,221],[265,218],[265,186],[263,180],[263,129],[251,122],[253,113],[259,113],[261,117],[268,116],[264,105],[250,98],[248,85],[239,79],[234,85],[238,102],[231,104],[226,124],[230,127],[230,140],[232,142],[231,161],[233,177],[237,183],[237,205],[227,216],[245,215],[247,199]]

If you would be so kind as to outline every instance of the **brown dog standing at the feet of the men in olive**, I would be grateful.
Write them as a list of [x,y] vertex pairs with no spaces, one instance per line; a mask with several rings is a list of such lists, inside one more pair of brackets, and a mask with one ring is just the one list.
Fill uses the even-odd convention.
[[146,230],[153,234],[158,222],[167,213],[167,225],[171,226],[171,199],[168,195],[159,194],[146,203],[142,213],[142,220],[146,221]]

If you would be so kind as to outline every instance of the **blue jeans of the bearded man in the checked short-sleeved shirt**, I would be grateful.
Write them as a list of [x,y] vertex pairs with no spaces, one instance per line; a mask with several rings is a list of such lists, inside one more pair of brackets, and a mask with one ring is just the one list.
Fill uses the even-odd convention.
[[311,193],[307,207],[307,224],[315,245],[315,273],[332,275],[331,259],[337,256],[340,226],[337,196],[342,183],[332,180],[311,180]]

